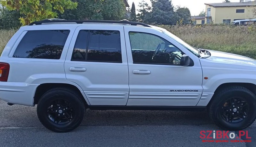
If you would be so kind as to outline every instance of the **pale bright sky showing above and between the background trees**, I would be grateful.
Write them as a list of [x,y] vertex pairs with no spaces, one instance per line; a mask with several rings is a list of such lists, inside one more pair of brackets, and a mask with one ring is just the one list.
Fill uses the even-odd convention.
[[[135,4],[136,10],[138,5],[142,0],[128,0],[130,7],[132,7],[132,2]],[[150,0],[144,0],[150,3]],[[173,6],[188,7],[192,16],[198,15],[202,10],[205,10],[204,3],[222,3],[224,0],[172,0]],[[230,2],[239,2],[239,0],[230,0]],[[137,12],[136,12],[137,13]]]

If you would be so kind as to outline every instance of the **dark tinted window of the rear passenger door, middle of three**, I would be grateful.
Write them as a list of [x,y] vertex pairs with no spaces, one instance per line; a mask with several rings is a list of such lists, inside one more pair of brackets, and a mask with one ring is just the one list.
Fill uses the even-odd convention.
[[122,63],[120,32],[81,30],[71,60]]

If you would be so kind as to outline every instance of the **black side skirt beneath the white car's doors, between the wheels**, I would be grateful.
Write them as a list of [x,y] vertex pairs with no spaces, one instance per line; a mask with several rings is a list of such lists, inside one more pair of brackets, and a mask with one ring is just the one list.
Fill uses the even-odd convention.
[[89,105],[91,110],[178,110],[178,111],[204,111],[204,106],[100,106]]

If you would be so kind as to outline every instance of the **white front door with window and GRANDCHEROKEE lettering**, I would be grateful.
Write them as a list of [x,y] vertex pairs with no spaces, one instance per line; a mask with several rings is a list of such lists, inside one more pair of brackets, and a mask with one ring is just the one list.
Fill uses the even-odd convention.
[[[130,87],[127,106],[196,106],[203,91],[198,57],[156,29],[125,26],[124,33]],[[180,66],[183,54],[193,60],[193,66]]]

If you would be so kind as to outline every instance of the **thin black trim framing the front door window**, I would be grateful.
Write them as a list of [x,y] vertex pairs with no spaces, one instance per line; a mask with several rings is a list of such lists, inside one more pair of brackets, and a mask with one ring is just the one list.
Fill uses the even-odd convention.
[[[166,40],[164,39],[163,37],[160,37],[156,34],[152,34],[152,33],[147,33],[147,32],[137,32],[137,31],[129,31],[128,32],[128,36],[129,36],[129,41],[130,41],[130,47],[131,47],[131,53],[132,53],[132,44],[131,44],[131,38],[130,38],[130,32],[135,32],[135,33],[144,33],[144,34],[149,34],[149,35],[153,35],[153,36],[156,36],[156,37],[159,37],[160,39],[163,39],[163,40]],[[168,41],[168,40],[166,40]],[[168,41],[170,44],[172,44],[170,41]],[[174,44],[172,44],[172,46],[178,48],[177,46],[175,46]],[[182,50],[180,48],[178,48],[182,54],[185,54],[184,52],[182,52]],[[190,58],[191,59],[191,58]],[[192,60],[192,59],[191,59]],[[134,62],[133,61],[133,56],[132,56],[132,63],[133,64],[147,64],[147,65],[168,65],[168,66],[180,66],[182,67],[181,65],[178,65],[178,64],[167,64],[167,63],[140,63],[140,62]]]

